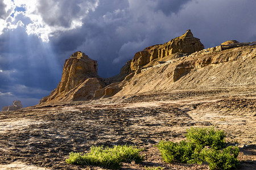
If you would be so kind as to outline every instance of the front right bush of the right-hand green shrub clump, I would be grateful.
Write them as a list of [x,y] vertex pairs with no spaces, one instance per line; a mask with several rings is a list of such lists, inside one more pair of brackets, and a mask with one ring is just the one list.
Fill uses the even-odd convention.
[[207,162],[210,169],[232,169],[239,165],[237,156],[239,154],[238,147],[229,146],[223,150],[214,150],[213,148],[203,148],[200,153],[192,155],[193,160],[189,160],[188,163]]

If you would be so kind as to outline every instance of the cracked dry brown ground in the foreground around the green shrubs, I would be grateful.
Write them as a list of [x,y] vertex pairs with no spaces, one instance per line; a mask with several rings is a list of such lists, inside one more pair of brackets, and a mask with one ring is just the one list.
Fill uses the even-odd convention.
[[256,169],[255,96],[211,100],[152,101],[129,104],[66,104],[0,112],[0,169],[103,169],[65,163],[69,152],[90,146],[136,145],[140,164],[121,169],[208,169],[207,164],[164,163],[155,145],[181,141],[191,126],[224,130],[240,143],[238,169]]

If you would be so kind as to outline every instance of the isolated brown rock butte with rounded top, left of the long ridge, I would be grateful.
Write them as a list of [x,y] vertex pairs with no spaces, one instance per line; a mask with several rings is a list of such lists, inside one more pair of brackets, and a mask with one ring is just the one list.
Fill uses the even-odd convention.
[[75,52],[66,59],[57,88],[49,96],[43,97],[39,104],[90,100],[94,92],[103,87],[105,84],[97,74],[97,61],[90,59],[85,53]]

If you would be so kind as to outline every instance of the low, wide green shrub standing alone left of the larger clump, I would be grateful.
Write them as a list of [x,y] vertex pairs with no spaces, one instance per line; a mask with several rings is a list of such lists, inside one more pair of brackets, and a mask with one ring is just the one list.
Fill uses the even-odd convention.
[[114,146],[113,148],[103,146],[93,146],[88,154],[69,153],[69,159],[66,162],[77,165],[97,165],[109,169],[118,169],[121,162],[139,163],[143,160],[143,156],[139,155],[142,149],[133,146]]

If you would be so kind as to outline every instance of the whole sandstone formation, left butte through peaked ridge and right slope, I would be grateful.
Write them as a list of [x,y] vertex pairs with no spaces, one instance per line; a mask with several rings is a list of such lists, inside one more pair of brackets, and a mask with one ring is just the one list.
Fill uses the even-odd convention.
[[156,91],[255,86],[255,42],[229,40],[204,49],[189,29],[164,44],[135,53],[112,78],[97,74],[97,61],[82,52],[65,61],[57,88],[39,104],[93,101]]

